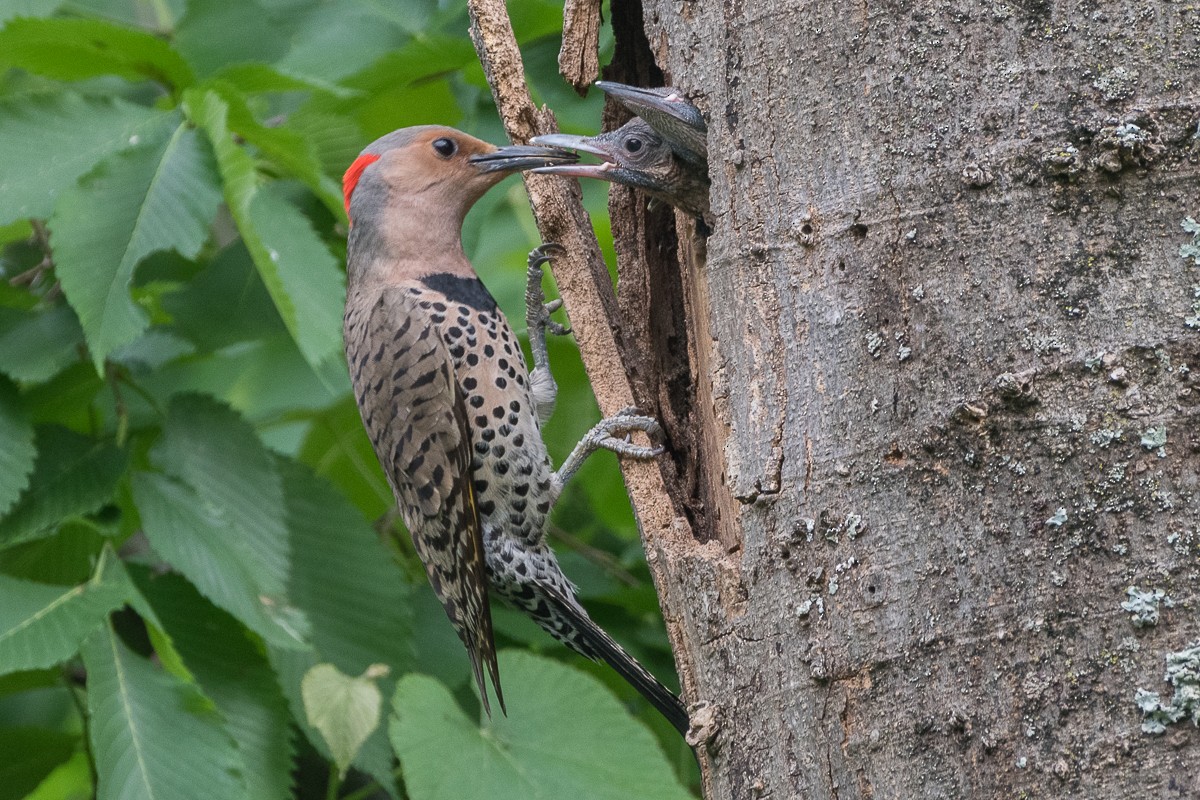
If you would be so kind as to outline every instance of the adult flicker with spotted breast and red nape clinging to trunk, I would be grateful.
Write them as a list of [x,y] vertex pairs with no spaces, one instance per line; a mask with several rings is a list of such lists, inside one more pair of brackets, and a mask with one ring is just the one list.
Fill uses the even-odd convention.
[[540,433],[557,391],[546,330],[562,332],[541,293],[546,251],[529,259],[530,373],[462,249],[463,216],[484,192],[514,172],[574,157],[497,149],[440,126],[403,128],[364,150],[343,180],[346,356],[362,422],[470,656],[484,708],[491,712],[485,669],[504,708],[491,589],[558,640],[611,664],[685,732],[679,698],[592,621],[545,536],[551,506],[588,455],[652,458],[661,447],[628,435],[660,435],[659,426],[632,411],[602,420],[554,471]]

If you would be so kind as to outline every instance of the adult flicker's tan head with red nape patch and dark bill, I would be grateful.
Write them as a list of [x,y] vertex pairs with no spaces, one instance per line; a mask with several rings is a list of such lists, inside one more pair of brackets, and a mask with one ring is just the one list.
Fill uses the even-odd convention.
[[550,148],[497,148],[440,125],[401,128],[367,145],[346,170],[346,213],[353,225],[401,204],[418,224],[437,224],[439,218],[461,223],[475,200],[506,175],[576,160]]

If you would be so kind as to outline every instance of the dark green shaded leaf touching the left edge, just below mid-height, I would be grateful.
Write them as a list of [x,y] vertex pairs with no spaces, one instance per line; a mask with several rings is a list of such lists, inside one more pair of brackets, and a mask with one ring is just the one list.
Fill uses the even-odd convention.
[[37,461],[29,488],[0,518],[0,547],[49,536],[67,517],[90,513],[112,499],[125,473],[125,453],[109,440],[38,426]]

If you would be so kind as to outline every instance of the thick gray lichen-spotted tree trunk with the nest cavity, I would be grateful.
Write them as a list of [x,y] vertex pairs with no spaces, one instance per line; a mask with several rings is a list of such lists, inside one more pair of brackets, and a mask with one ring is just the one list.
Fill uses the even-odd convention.
[[707,796],[1200,798],[1200,8],[612,5],[709,121],[710,236],[613,191]]

